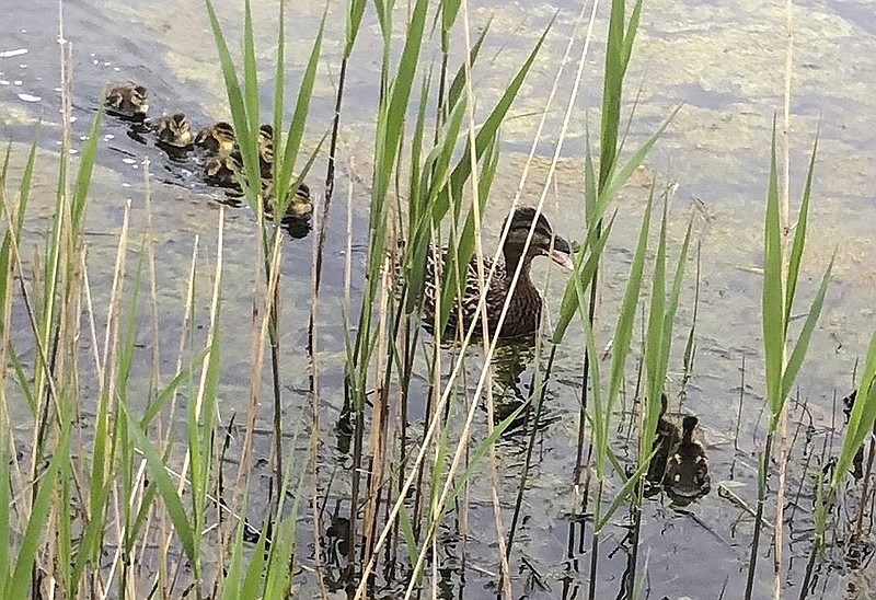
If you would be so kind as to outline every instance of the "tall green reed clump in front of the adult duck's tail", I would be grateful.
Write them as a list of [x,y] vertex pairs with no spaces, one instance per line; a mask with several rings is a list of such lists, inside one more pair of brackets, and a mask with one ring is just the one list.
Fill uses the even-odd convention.
[[[414,68],[416,62],[414,60],[414,55],[419,51],[419,43],[416,36],[423,34],[426,9],[427,4],[425,2],[414,5],[414,10],[411,13],[411,22],[407,25],[407,37],[403,43],[397,70],[394,74],[387,72],[385,68],[388,62],[384,60],[384,76],[381,78],[385,84],[378,111],[373,171],[376,184],[372,187],[371,194],[370,258],[367,266],[367,279],[371,285],[367,287],[362,298],[355,346],[351,348],[351,351],[348,351],[348,356],[351,358],[348,368],[358,370],[358,373],[350,373],[353,377],[349,378],[350,385],[353,388],[358,388],[351,393],[354,399],[357,396],[362,397],[361,394],[365,391],[364,383],[367,381],[367,373],[371,368],[372,359],[378,360],[378,364],[382,361],[382,364],[387,365],[384,371],[385,377],[383,378],[380,390],[384,391],[388,389],[388,385],[390,385],[391,377],[389,366],[395,359],[392,356],[381,359],[380,356],[373,354],[373,350],[381,346],[384,348],[392,348],[394,344],[392,339],[397,335],[397,325],[402,322],[402,313],[394,312],[395,318],[392,319],[392,322],[395,323],[395,325],[391,331],[387,331],[384,327],[378,327],[377,331],[371,328],[371,315],[373,314],[371,312],[371,307],[377,301],[381,303],[385,301],[385,288],[379,293],[377,281],[380,279],[379,273],[381,268],[387,268],[385,263],[383,263],[383,249],[390,249],[387,240],[393,221],[390,215],[393,205],[385,201],[390,189],[389,182],[392,181],[393,177],[397,177],[399,172],[396,170],[401,169],[401,161],[404,160],[404,171],[408,174],[407,185],[405,186],[408,191],[408,198],[404,207],[397,204],[397,199],[395,206],[402,215],[406,214],[407,217],[407,230],[402,232],[406,239],[406,244],[403,257],[401,258],[402,273],[405,276],[405,291],[400,305],[397,309],[394,308],[393,311],[404,308],[406,313],[412,313],[418,309],[423,289],[424,269],[430,252],[429,249],[433,247],[434,244],[440,243],[438,242],[440,238],[436,238],[436,233],[441,231],[441,222],[445,217],[450,217],[450,234],[447,240],[449,247],[448,259],[445,263],[445,277],[441,282],[440,309],[436,314],[436,331],[441,332],[443,330],[443,324],[447,323],[449,319],[452,299],[459,291],[458,288],[462,280],[461,274],[464,273],[470,257],[475,253],[475,240],[480,236],[480,215],[486,207],[485,203],[498,157],[497,135],[499,126],[509,111],[514,97],[519,91],[544,39],[544,36],[542,36],[529,58],[504,91],[496,106],[488,113],[485,120],[480,124],[474,131],[471,129],[470,125],[470,135],[468,136],[461,155],[458,154],[458,142],[462,137],[466,112],[470,109],[471,103],[473,102],[473,99],[469,97],[469,93],[464,93],[466,88],[464,78],[468,77],[471,64],[476,60],[477,49],[483,41],[483,35],[469,54],[469,60],[471,62],[468,66],[464,65],[460,67],[451,85],[446,91],[446,97],[439,100],[439,104],[448,107],[449,117],[443,123],[443,126],[439,128],[431,148],[427,147],[425,151],[423,146],[425,145],[426,106],[431,86],[428,83],[428,79],[424,77],[420,85],[418,104],[414,103],[412,106],[417,116],[414,122],[414,134],[410,154],[403,155],[400,145],[401,132],[403,131],[402,118],[407,107],[411,105],[413,81],[414,78],[417,77],[416,73],[418,69]],[[445,9],[440,8],[439,10]],[[391,15],[388,12],[383,12],[380,8],[378,8],[378,13],[381,27],[385,31],[391,26]],[[390,43],[391,38],[384,36],[384,44]],[[388,46],[384,46],[384,57],[391,54],[388,48]],[[408,59],[407,57],[411,58]],[[396,149],[395,146],[399,146],[399,148]],[[474,171],[475,165],[479,168],[477,172]],[[473,189],[473,199],[468,210],[463,208],[465,206],[463,197],[466,183],[471,183]],[[395,232],[394,234],[397,235],[399,233]],[[394,305],[392,300],[389,301],[389,304]],[[404,322],[406,323],[407,321],[408,320],[405,318]],[[371,336],[370,339],[369,335]],[[389,336],[389,342],[384,342],[387,339],[385,336]],[[469,333],[468,337],[471,337],[471,333]],[[413,339],[416,341],[416,338],[417,336],[414,335]],[[408,337],[407,339],[405,346],[410,348],[411,338]],[[435,365],[440,365],[439,346],[440,333],[436,335],[436,345],[434,346]],[[412,356],[414,348],[405,349],[404,351],[406,356]],[[405,360],[405,364],[407,364],[407,360]],[[397,491],[397,498],[392,499],[392,509],[389,515],[390,522],[382,526],[382,532],[380,538],[376,541],[377,543],[368,549],[368,553],[366,554],[367,559],[364,565],[364,574],[360,576],[358,595],[364,593],[367,574],[373,567],[377,550],[381,544],[385,543],[387,536],[392,529],[392,521],[394,521],[396,516],[401,519],[401,530],[406,540],[407,552],[412,558],[415,575],[418,573],[426,556],[426,552],[433,543],[437,527],[443,521],[448,507],[453,506],[456,498],[469,481],[469,475],[466,473],[470,473],[473,466],[482,460],[486,449],[493,445],[498,435],[500,435],[512,420],[506,419],[496,427],[488,436],[489,441],[479,445],[473,453],[468,457],[466,466],[462,471],[462,474],[454,475],[457,465],[461,460],[461,452],[466,448],[468,441],[465,436],[459,441],[452,441],[447,438],[448,429],[441,425],[441,422],[443,419],[445,407],[449,406],[448,401],[450,400],[450,394],[453,393],[453,390],[458,385],[454,381],[458,379],[461,365],[462,362],[459,360],[456,362],[453,374],[451,374],[451,381],[446,384],[443,390],[441,390],[440,384],[435,388],[434,401],[430,402],[433,406],[433,416],[427,424],[423,447],[417,457],[411,462],[411,472],[400,473],[397,475],[399,483],[391,487]],[[434,368],[438,369],[437,366]],[[402,378],[403,384],[407,385],[410,383],[410,377],[404,373],[399,374]],[[406,388],[404,393],[407,393]],[[357,440],[362,439],[364,436],[364,434],[359,432],[361,431],[360,424],[364,423],[364,415],[360,412],[360,406],[361,404],[354,404],[358,413],[356,420]],[[470,406],[474,407],[475,403],[471,403]],[[374,406],[374,411],[377,409],[378,407]],[[450,414],[452,413],[453,411],[451,408]],[[469,422],[472,416],[473,413],[470,411],[468,415]],[[437,438],[434,437],[439,429],[442,430],[443,434],[439,435]],[[371,438],[373,439],[373,432]],[[435,460],[438,468],[433,470],[431,476],[428,477],[430,482],[428,485],[429,489],[425,495],[428,497],[428,510],[420,510],[415,507],[415,515],[412,519],[402,500],[407,489],[413,485],[414,478],[422,477],[422,465],[424,465],[423,459],[426,449],[431,449],[436,452]],[[358,455],[360,454],[357,454],[357,457]],[[450,470],[446,474],[442,474],[445,471],[440,468],[442,463],[441,457],[447,457],[447,460],[450,460],[451,455],[452,464]],[[354,462],[358,462],[356,457],[354,458]],[[354,483],[357,478],[354,480]],[[401,483],[402,480],[404,483]],[[373,496],[374,493],[379,494],[379,489],[372,488],[369,496]],[[353,500],[355,504],[356,494],[354,494]],[[417,504],[417,507],[418,506]],[[368,512],[371,515],[374,514],[373,510],[369,510]],[[423,518],[426,519],[425,522],[420,522]],[[369,523],[367,521],[368,519],[366,519],[364,527],[369,531],[377,532],[377,523]],[[425,532],[425,536],[420,538],[418,532]],[[373,543],[373,538],[370,538],[370,540]],[[368,559],[369,556],[372,558]],[[412,579],[412,586],[417,580],[418,577],[414,577]],[[411,589],[408,589],[408,593],[411,593]]]

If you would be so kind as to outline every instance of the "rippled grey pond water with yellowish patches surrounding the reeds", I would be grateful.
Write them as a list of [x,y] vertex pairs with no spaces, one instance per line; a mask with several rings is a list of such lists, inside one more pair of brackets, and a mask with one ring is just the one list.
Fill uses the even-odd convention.
[[[28,231],[39,232],[50,223],[60,139],[59,46],[57,4],[47,0],[19,2],[14,19],[0,24],[0,139],[13,145],[13,178],[20,172],[23,143],[39,123],[39,159],[35,176]],[[240,2],[217,3],[232,49],[239,47]],[[603,37],[607,5],[600,8],[596,39]],[[263,109],[270,106],[272,38],[276,24],[273,2],[254,5],[257,45],[263,80]],[[107,82],[137,81],[149,88],[150,114],[182,111],[197,124],[228,118],[227,102],[206,11],[197,0],[149,0],[127,3],[113,0],[72,2],[65,7],[65,36],[73,44],[74,147],[91,126],[101,90]],[[319,26],[323,4],[296,2],[290,7],[287,78],[300,80],[312,36]],[[399,9],[403,19],[403,9]],[[476,2],[471,7],[473,26],[493,16],[480,68],[475,70],[479,108],[491,106],[509,73],[521,64],[541,32],[556,13],[556,23],[538,57],[521,97],[503,129],[503,158],[494,194],[488,205],[493,218],[485,243],[493,241],[532,143],[539,114],[543,111],[565,48],[575,30],[580,7],[534,0]],[[588,9],[589,11],[589,9]],[[753,0],[646,0],[642,30],[629,77],[627,97],[638,93],[627,148],[643,141],[677,107],[683,104],[666,135],[618,199],[620,208],[614,235],[602,272],[601,302],[597,312],[599,342],[610,337],[610,325],[625,285],[637,227],[647,198],[650,176],[658,188],[672,186],[670,236],[677,252],[691,215],[701,257],[700,303],[696,315],[698,354],[687,384],[682,411],[700,417],[702,437],[711,458],[713,492],[680,510],[661,496],[646,503],[641,561],[647,562],[645,597],[660,599],[714,599],[741,596],[751,541],[751,518],[740,507],[716,493],[718,482],[740,485],[735,492],[749,501],[756,497],[757,451],[762,448],[765,418],[763,369],[760,360],[760,264],[763,204],[765,197],[770,135],[773,116],[781,113],[784,66],[784,3],[764,5]],[[821,440],[839,427],[841,415],[834,397],[852,385],[855,361],[866,350],[876,325],[876,185],[872,165],[876,162],[876,8],[872,2],[807,0],[795,8],[795,56],[793,114],[792,198],[796,204],[805,176],[808,153],[820,128],[816,187],[810,236],[800,278],[802,302],[795,314],[807,310],[821,273],[832,253],[837,264],[820,324],[814,336],[809,359],[798,379],[799,399],[806,409],[793,412],[791,431],[811,426],[816,452]],[[334,86],[343,44],[343,3],[330,7],[328,26],[308,123],[304,151],[312,151],[330,125]],[[459,42],[459,41],[456,41]],[[429,46],[427,60],[438,60]],[[459,47],[459,45],[457,46]],[[601,43],[590,48],[583,94],[574,112],[563,159],[552,184],[545,212],[555,230],[566,236],[580,235],[580,210],[585,148],[585,125],[597,129],[601,91]],[[26,50],[26,51],[24,51]],[[347,96],[339,145],[338,197],[353,185],[354,273],[361,273],[367,243],[369,157],[377,105],[380,34],[369,7],[359,35],[347,80]],[[565,97],[574,68],[560,86]],[[291,86],[293,89],[293,84]],[[291,100],[289,104],[291,106]],[[627,103],[627,109],[632,102]],[[549,130],[537,145],[537,158],[522,200],[538,199],[545,181],[549,160],[560,134],[563,104],[549,115]],[[131,228],[138,240],[146,231],[142,159],[150,159],[152,222],[155,236],[160,300],[159,332],[162,372],[171,373],[178,344],[185,282],[194,239],[199,236],[198,267],[210,273],[216,254],[216,227],[223,195],[199,182],[187,163],[175,163],[151,142],[143,145],[127,136],[128,125],[105,117],[99,151],[99,169],[92,186],[85,240],[89,244],[90,278],[96,305],[105,305],[112,273],[100,265],[113,264],[115,235],[119,232],[126,200],[131,200]],[[323,151],[311,185],[325,170]],[[18,170],[18,171],[16,171]],[[343,402],[344,326],[341,305],[344,292],[345,206],[333,205],[319,311],[321,457],[345,461],[335,448],[337,420]],[[256,231],[251,211],[228,207],[226,217],[226,277],[223,281],[222,376],[223,418],[245,414],[249,388],[249,341],[252,290],[260,270]],[[307,233],[307,232],[303,232]],[[281,380],[284,408],[292,422],[308,414],[308,359],[306,351],[313,235],[290,238],[283,262]],[[134,246],[132,246],[134,247]],[[565,277],[558,270],[538,265],[546,288],[551,314],[556,314]],[[673,357],[670,362],[670,411],[678,413],[676,397],[688,328],[693,319],[695,265],[689,265],[688,285],[679,310]],[[354,307],[360,296],[361,278],[353,280]],[[206,324],[208,285],[198,290],[195,321]],[[242,316],[242,318],[241,318]],[[800,321],[798,320],[797,323]],[[23,323],[23,322],[22,322]],[[142,332],[143,342],[150,334]],[[148,344],[145,344],[148,346]],[[578,526],[567,515],[573,498],[572,481],[580,397],[579,370],[584,339],[576,331],[560,348],[554,368],[555,383],[549,394],[546,422],[539,434],[533,472],[525,497],[525,523],[518,532],[511,557],[517,598],[586,597],[589,569],[587,550],[567,556],[569,536]],[[151,357],[145,347],[143,362]],[[741,364],[745,357],[745,390],[737,435]],[[28,359],[25,354],[24,360]],[[471,366],[475,369],[476,365]],[[147,379],[148,369],[139,372]],[[522,376],[526,381],[527,376]],[[269,382],[263,396],[260,425],[269,428]],[[146,383],[142,384],[146,389]],[[412,418],[420,418],[422,409]],[[13,415],[28,423],[25,411]],[[292,426],[290,425],[290,428]],[[483,434],[483,424],[479,435]],[[799,432],[800,436],[804,432]],[[181,440],[183,439],[181,431]],[[267,454],[267,438],[261,443]],[[835,446],[839,443],[834,441]],[[520,440],[499,446],[499,494],[510,519],[521,463]],[[785,552],[788,581],[786,595],[796,597],[810,547],[809,512],[811,489],[804,471],[795,468],[805,455],[799,445],[791,462],[793,485],[804,482],[795,510],[799,526],[792,528]],[[328,476],[327,469],[325,476]],[[344,497],[348,482],[334,482],[328,506]],[[347,487],[345,487],[347,486]],[[771,510],[768,510],[771,517]],[[623,516],[608,528],[602,540],[598,598],[618,596],[626,566]],[[475,485],[471,497],[471,531],[468,542],[469,568],[460,566],[458,540],[443,539],[442,593],[447,598],[483,598],[494,593],[495,532],[492,506],[485,486]],[[795,521],[796,523],[796,521]],[[303,531],[309,528],[302,515]],[[302,533],[311,539],[311,533]],[[577,538],[575,538],[577,539]],[[577,543],[577,542],[575,542]],[[572,544],[574,545],[574,544]],[[584,546],[583,546],[584,547]],[[620,551],[618,551],[620,549]],[[770,593],[772,553],[769,530],[761,542],[757,598]],[[643,558],[644,557],[644,558]],[[307,563],[312,557],[302,555]],[[788,563],[789,561],[789,563]],[[821,574],[818,591],[822,598],[869,598],[867,581],[872,568],[857,573],[845,568],[842,553],[833,553]],[[535,576],[538,574],[538,576]],[[301,590],[315,589],[315,576],[301,574]],[[858,591],[849,591],[850,585]],[[722,592],[722,590],[724,590]],[[304,592],[309,593],[309,592]]]

